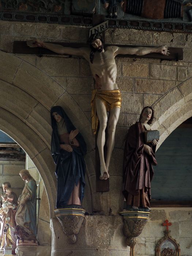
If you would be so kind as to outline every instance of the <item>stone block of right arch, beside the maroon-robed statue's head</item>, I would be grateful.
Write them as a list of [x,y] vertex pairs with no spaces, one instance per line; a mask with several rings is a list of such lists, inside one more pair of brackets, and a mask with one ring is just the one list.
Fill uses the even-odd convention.
[[[155,117],[161,124],[163,120],[168,118],[178,107],[184,103],[181,92],[176,88],[170,90],[165,96],[159,99],[153,106]],[[169,110],[169,112],[167,112]]]

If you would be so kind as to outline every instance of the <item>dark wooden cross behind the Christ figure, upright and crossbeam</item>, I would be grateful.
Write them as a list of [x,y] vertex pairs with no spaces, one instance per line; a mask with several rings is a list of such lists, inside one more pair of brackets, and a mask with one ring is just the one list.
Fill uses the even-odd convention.
[[[93,26],[96,26],[100,23],[105,21],[105,15],[93,15]],[[105,32],[102,32],[104,44],[105,44]],[[51,42],[53,43],[53,42]],[[73,48],[80,48],[80,47],[87,47],[86,44],[78,44],[78,43],[62,43],[62,42],[55,42],[54,44],[60,44],[65,47],[73,47]],[[105,44],[105,46],[108,46]],[[135,47],[134,45],[117,45],[120,47]],[[162,60],[182,60],[183,59],[183,51],[182,48],[169,48],[170,55],[165,56],[160,53],[150,53],[144,56],[139,56],[139,58],[155,58],[155,59],[162,59]],[[58,55],[58,53],[54,53],[49,49],[45,48],[29,48],[25,41],[15,41],[13,47],[13,53],[15,54],[37,54],[37,55],[44,55],[44,54],[51,54],[51,55]],[[118,55],[119,57],[132,57],[137,58],[136,55]],[[106,137],[107,137],[107,129],[106,129]],[[106,140],[107,141],[107,138]],[[96,169],[96,191],[97,192],[105,192],[109,191],[109,179],[107,180],[100,180],[100,159],[99,153],[97,148],[97,134],[95,136],[95,169]],[[106,145],[104,147],[104,155],[106,155]],[[110,173],[109,173],[110,175]]]

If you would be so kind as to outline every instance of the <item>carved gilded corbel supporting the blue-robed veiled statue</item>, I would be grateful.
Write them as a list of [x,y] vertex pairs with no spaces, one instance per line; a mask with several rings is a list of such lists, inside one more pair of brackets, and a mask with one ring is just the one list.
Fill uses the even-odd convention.
[[59,208],[54,211],[63,227],[64,233],[67,235],[68,244],[75,244],[77,241],[76,235],[79,233],[82,225],[85,210],[78,208]]

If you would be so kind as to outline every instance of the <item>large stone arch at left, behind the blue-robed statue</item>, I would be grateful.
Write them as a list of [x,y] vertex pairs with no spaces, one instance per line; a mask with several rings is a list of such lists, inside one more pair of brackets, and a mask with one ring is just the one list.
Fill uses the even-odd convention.
[[[41,174],[54,217],[56,177],[50,156],[50,108],[61,105],[86,138],[88,151],[94,147],[91,125],[67,91],[49,75],[14,54],[0,51],[0,129],[10,135],[29,155]],[[93,163],[90,163],[93,164]],[[89,165],[87,177],[89,178]],[[91,182],[87,185],[92,189]]]

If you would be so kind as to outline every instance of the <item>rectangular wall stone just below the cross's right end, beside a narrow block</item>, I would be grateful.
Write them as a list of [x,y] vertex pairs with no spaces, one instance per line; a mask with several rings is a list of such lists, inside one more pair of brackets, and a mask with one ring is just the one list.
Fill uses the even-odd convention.
[[169,65],[151,64],[150,78],[177,80],[177,67]]

